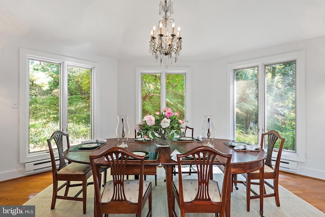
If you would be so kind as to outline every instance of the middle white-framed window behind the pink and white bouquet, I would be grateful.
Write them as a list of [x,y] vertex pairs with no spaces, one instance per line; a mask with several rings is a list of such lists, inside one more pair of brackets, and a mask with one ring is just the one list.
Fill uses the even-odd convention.
[[148,113],[170,107],[180,119],[190,118],[189,69],[157,70],[137,68],[136,122]]

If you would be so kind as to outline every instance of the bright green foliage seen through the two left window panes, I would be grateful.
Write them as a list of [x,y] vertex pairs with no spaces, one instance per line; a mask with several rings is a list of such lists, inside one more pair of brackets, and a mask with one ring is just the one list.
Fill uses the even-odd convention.
[[[60,130],[60,64],[29,59],[29,152],[47,150]],[[68,67],[68,133],[71,144],[90,138],[91,69]],[[62,129],[66,129],[62,126]]]

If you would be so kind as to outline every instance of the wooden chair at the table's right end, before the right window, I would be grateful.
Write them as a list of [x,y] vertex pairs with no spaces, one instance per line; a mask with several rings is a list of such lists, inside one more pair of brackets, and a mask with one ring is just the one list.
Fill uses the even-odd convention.
[[[274,145],[277,140],[280,140],[279,148],[274,148]],[[262,134],[261,139],[261,147],[263,148],[264,144],[266,144],[267,150],[267,157],[265,160],[264,165],[264,183],[268,185],[271,189],[273,189],[272,193],[267,194],[266,189],[264,188],[264,197],[275,197],[275,203],[277,206],[280,206],[280,199],[279,199],[279,167],[280,167],[280,160],[281,160],[281,153],[283,149],[284,144],[284,138],[280,136],[280,134],[274,130],[268,131],[267,133]],[[277,157],[275,161],[275,166],[272,165],[272,153],[277,152]],[[246,180],[240,181],[236,180],[236,178],[232,178],[232,184],[233,183],[243,183],[246,185],[246,199],[247,199],[247,211],[249,211],[250,207],[250,199],[259,198],[259,195],[251,189],[251,184],[257,184],[259,185],[259,182],[252,182],[251,180],[259,179],[259,170],[250,172],[250,173],[244,173],[242,174]],[[273,184],[267,181],[267,179],[273,179]],[[233,185],[232,185],[233,187]],[[253,193],[253,195],[250,195],[250,192]]]

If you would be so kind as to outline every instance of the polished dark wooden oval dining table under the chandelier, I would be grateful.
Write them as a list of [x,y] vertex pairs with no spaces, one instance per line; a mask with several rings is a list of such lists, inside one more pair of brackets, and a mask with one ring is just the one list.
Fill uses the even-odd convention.
[[[226,197],[226,216],[230,216],[231,207],[231,175],[248,173],[259,170],[259,191],[260,191],[260,214],[263,216],[263,193],[264,193],[264,159],[266,152],[264,149],[255,151],[235,150],[224,143],[232,142],[228,139],[214,139],[214,148],[223,152],[231,153],[231,169],[228,182],[228,191]],[[166,185],[167,185],[167,199],[168,199],[168,212],[169,216],[173,216],[172,210],[172,168],[177,165],[177,162],[171,159],[171,153],[177,149],[179,152],[188,151],[194,147],[203,145],[201,141],[172,141],[168,147],[157,147],[153,141],[135,141],[135,139],[128,139],[127,149],[130,151],[146,151],[149,153],[158,153],[156,160],[145,160],[144,174],[151,175],[152,171],[155,171],[156,166],[164,165],[166,170]],[[107,142],[94,150],[76,150],[74,146],[64,151],[64,158],[71,162],[90,164],[89,156],[99,154],[110,147],[117,146],[117,139],[107,139]],[[129,163],[129,174],[133,173],[133,170],[138,170],[137,162],[131,161]],[[182,161],[183,164],[183,161]],[[184,164],[186,163],[184,161]],[[219,162],[222,164],[222,162]]]

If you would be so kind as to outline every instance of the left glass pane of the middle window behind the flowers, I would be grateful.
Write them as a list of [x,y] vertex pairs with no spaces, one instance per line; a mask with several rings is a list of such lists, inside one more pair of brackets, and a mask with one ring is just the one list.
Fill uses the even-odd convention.
[[160,111],[160,74],[142,74],[142,119]]

